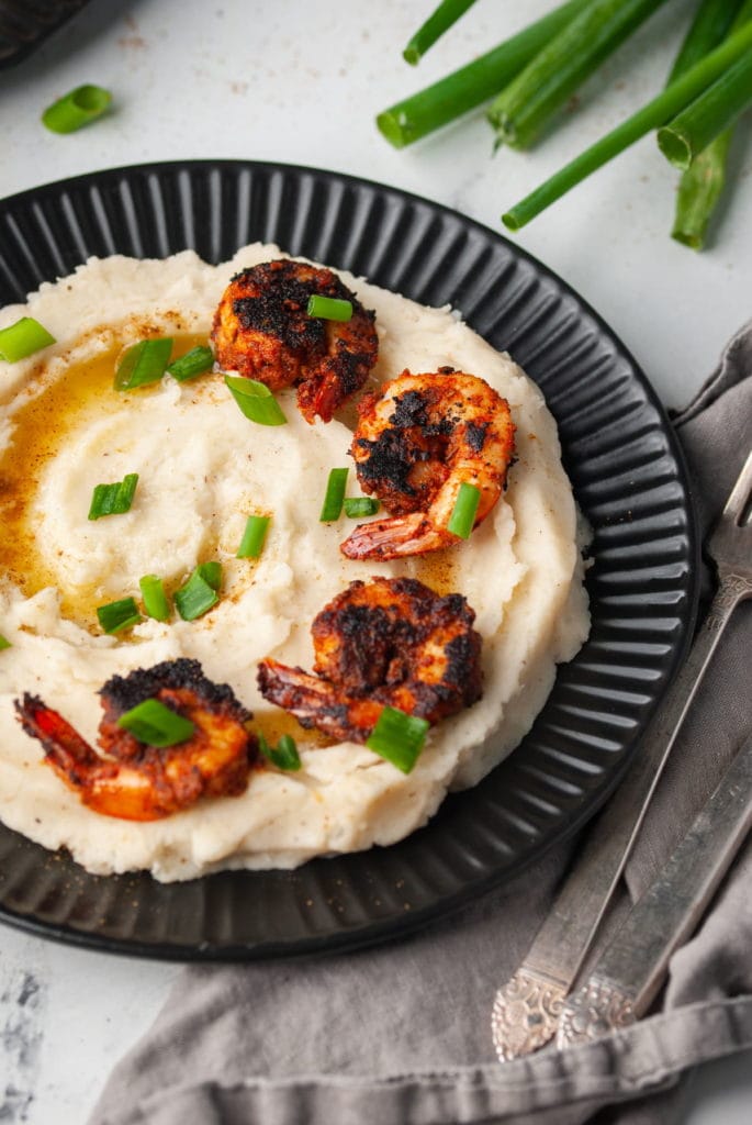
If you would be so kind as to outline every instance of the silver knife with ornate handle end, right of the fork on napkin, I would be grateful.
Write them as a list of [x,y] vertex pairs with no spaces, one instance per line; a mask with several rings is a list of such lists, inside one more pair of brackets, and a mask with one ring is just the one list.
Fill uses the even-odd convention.
[[559,1017],[568,1047],[634,1023],[650,1007],[669,958],[691,935],[752,828],[752,736],[726,770],[662,874]]

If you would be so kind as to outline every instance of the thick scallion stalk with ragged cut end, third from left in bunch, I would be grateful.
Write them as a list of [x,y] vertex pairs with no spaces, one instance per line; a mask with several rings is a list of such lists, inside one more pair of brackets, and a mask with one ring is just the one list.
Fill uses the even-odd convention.
[[526,148],[602,62],[665,0],[592,0],[491,102],[497,144]]

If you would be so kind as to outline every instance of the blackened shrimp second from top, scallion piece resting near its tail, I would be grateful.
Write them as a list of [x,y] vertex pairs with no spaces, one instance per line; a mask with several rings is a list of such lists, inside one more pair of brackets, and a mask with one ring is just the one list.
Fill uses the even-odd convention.
[[474,526],[498,501],[514,454],[509,404],[484,379],[404,371],[359,406],[351,453],[364,492],[390,516],[342,543],[352,559],[419,555],[461,540],[447,530],[464,484],[480,490]]

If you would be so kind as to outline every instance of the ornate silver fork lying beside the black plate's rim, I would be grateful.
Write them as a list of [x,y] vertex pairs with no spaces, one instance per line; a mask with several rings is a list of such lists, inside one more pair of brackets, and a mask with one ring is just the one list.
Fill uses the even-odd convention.
[[496,993],[491,1034],[500,1062],[537,1051],[556,1034],[564,998],[624,870],[689,705],[732,613],[752,597],[752,525],[742,523],[751,493],[752,452],[705,542],[718,586],[689,656],[527,956]]

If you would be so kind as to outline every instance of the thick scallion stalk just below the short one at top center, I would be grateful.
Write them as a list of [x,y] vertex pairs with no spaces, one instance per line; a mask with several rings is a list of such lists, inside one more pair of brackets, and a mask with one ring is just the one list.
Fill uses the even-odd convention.
[[377,117],[381,134],[404,148],[475,109],[502,90],[591,0],[569,0],[466,66],[418,90]]

